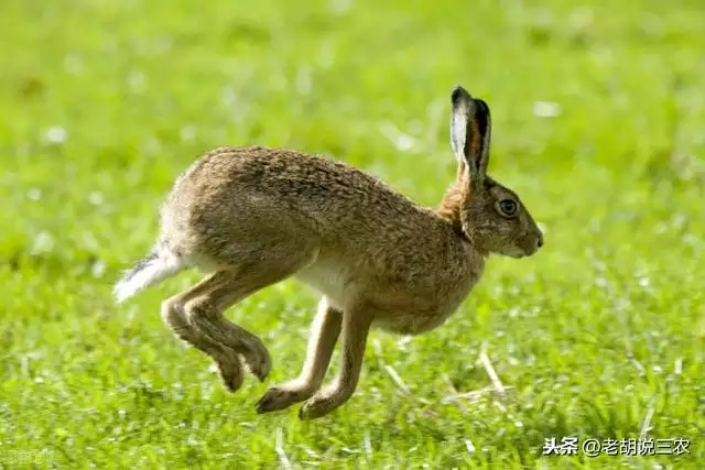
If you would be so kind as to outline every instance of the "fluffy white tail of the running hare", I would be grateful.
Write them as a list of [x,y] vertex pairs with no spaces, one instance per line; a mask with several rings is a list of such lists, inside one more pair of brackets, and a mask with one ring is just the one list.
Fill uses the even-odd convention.
[[120,304],[138,292],[176,275],[185,267],[183,260],[171,251],[154,250],[124,272],[112,291],[115,298]]

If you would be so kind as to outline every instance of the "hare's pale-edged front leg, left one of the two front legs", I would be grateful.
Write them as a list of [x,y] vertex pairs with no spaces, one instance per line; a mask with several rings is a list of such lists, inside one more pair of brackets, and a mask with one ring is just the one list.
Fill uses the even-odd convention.
[[323,382],[333,349],[340,335],[343,311],[332,307],[323,297],[318,303],[318,313],[311,326],[306,360],[299,378],[272,386],[257,402],[257,413],[284,409],[293,403],[310,398]]

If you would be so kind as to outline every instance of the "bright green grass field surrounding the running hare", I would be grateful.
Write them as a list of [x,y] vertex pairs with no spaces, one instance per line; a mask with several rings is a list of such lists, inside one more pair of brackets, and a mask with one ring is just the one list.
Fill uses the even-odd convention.
[[[703,468],[705,6],[593,3],[2,2],[0,468]],[[159,315],[196,273],[115,305],[214,146],[332,154],[435,206],[456,84],[546,244],[491,259],[440,329],[373,332],[343,408],[257,415],[251,376],[228,394]],[[316,300],[288,281],[230,310],[269,384],[299,373]],[[448,400],[491,387],[484,350],[506,393]],[[642,431],[690,453],[542,455]]]

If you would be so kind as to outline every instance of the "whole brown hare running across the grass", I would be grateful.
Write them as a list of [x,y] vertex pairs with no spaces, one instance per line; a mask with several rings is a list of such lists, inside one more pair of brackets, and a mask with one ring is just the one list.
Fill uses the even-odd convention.
[[[122,302],[182,270],[208,275],[162,304],[166,325],[210,356],[230,391],[243,368],[263,381],[270,354],[224,311],[294,276],[323,295],[303,371],[271,387],[258,413],[305,402],[323,416],[354,393],[371,327],[416,335],[442,325],[480,278],[490,253],[535,253],[543,236],[519,196],[487,175],[490,112],[452,94],[457,177],[440,208],[330,159],[261,146],[206,153],[180,176],[161,210],[152,254],[116,285]],[[322,387],[339,336],[338,376]]]

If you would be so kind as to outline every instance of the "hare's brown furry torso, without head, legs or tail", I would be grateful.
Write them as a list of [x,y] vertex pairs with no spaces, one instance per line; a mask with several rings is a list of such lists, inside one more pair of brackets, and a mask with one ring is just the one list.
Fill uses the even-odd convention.
[[295,249],[301,261],[290,274],[337,308],[364,300],[380,310],[376,323],[404,334],[455,309],[484,264],[448,218],[366,173],[293,151],[213,151],[182,178],[163,214],[178,220],[164,227],[173,253],[231,270],[268,255],[279,263],[278,250],[290,258]]

